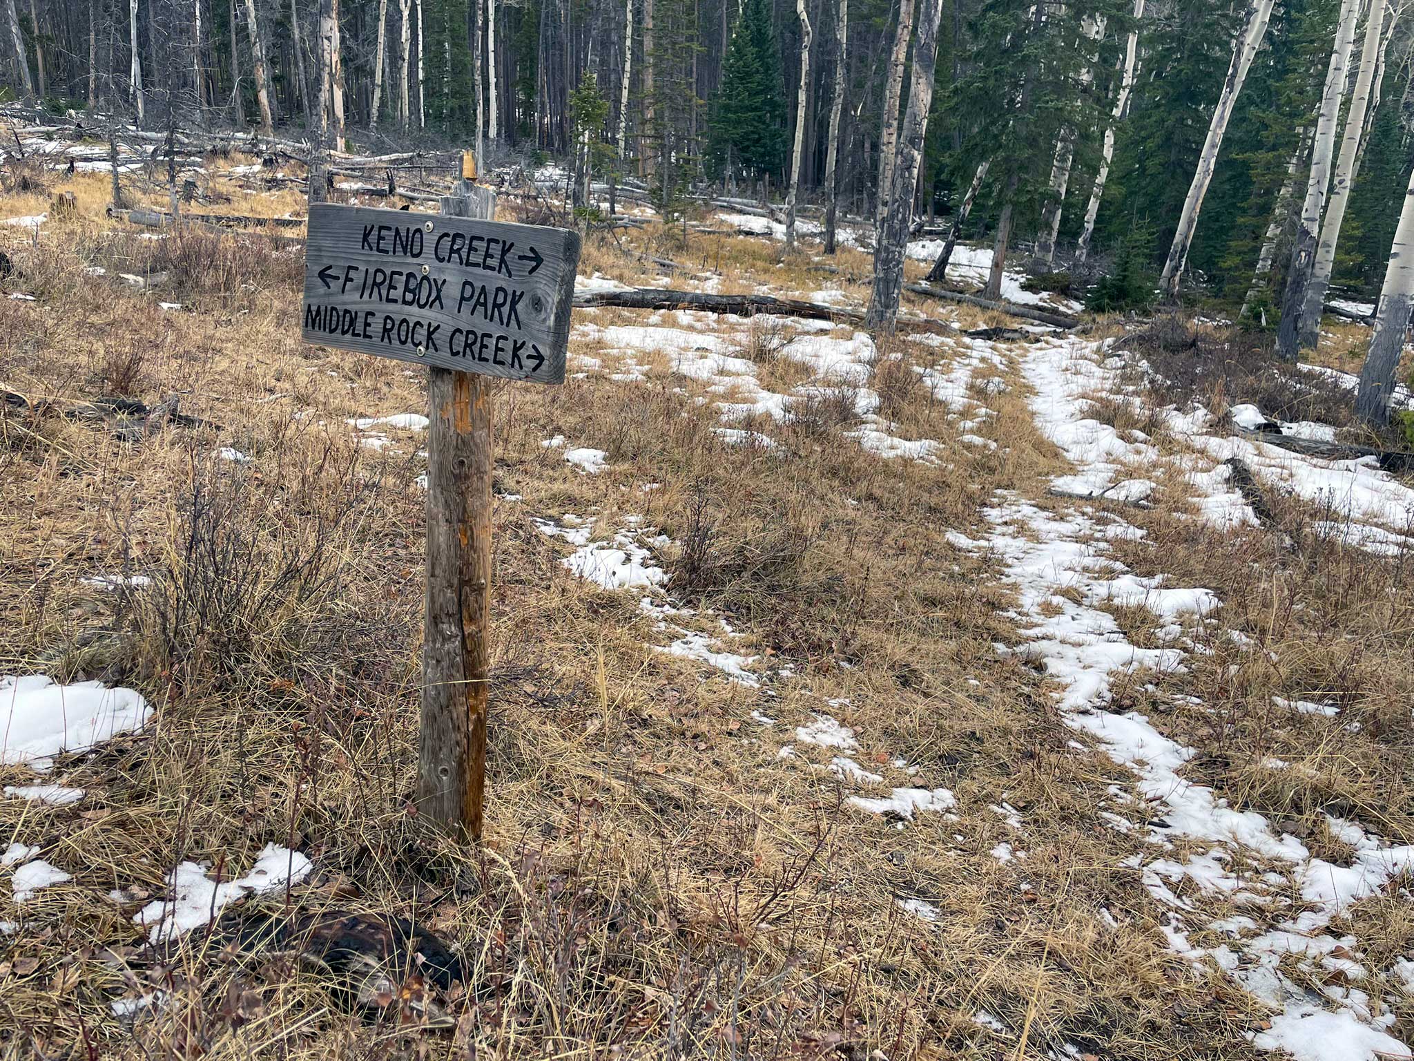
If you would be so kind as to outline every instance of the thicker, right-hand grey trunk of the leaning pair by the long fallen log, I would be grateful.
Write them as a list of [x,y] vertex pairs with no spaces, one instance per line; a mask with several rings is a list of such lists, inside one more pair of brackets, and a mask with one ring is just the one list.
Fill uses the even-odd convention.
[[888,212],[874,248],[874,291],[865,323],[885,332],[898,324],[898,301],[904,289],[904,252],[913,219],[913,191],[928,137],[928,112],[933,105],[933,76],[937,64],[937,23],[943,0],[921,0],[918,40],[913,44],[913,79],[908,92],[908,112],[892,167]]

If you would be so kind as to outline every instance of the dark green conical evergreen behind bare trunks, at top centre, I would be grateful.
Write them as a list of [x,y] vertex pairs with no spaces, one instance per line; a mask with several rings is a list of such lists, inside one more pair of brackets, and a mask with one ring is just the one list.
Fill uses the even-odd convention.
[[747,0],[727,45],[708,127],[713,167],[761,177],[785,161],[786,103],[781,57],[765,0]]

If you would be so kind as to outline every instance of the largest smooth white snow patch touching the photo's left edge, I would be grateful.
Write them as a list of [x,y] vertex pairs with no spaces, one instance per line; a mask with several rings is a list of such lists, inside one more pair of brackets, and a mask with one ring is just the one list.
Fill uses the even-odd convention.
[[88,751],[151,717],[139,693],[102,682],[57,685],[45,675],[0,676],[0,763],[48,770],[59,753]]

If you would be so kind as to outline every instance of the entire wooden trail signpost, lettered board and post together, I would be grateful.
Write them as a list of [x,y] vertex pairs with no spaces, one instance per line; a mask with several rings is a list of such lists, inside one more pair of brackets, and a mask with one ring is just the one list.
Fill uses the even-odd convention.
[[427,605],[417,808],[482,829],[491,611],[491,381],[563,383],[580,235],[495,222],[465,181],[438,216],[317,204],[307,342],[427,365]]

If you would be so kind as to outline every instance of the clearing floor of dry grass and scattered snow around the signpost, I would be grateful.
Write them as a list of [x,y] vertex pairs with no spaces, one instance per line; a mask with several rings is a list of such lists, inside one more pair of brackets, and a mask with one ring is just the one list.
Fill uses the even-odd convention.
[[[209,211],[303,212],[253,163]],[[0,225],[0,673],[153,714],[0,767],[83,791],[0,799],[8,1054],[1408,1055],[1414,488],[1233,431],[1319,434],[1299,381],[1155,379],[1222,325],[577,310],[563,386],[496,389],[472,850],[410,802],[420,373],[300,342],[298,245],[109,222],[100,174],[0,214],[66,188]],[[650,224],[580,273],[861,308],[868,255],[822,265]],[[197,422],[61,414],[105,395]],[[214,886],[257,862],[297,883]],[[229,928],[325,911],[468,982],[370,997]]]

